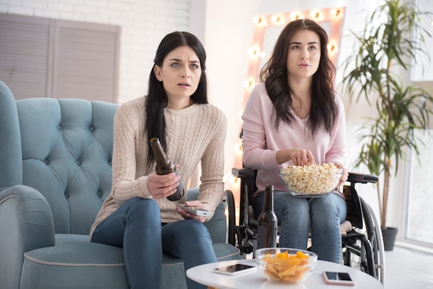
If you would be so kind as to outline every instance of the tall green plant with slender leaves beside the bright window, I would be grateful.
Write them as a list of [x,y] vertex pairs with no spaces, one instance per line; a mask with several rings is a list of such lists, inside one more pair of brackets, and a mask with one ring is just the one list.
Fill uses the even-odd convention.
[[360,35],[352,32],[357,48],[344,61],[344,88],[349,95],[357,95],[357,101],[365,97],[376,109],[362,131],[356,167],[365,165],[371,174],[380,176],[376,187],[385,250],[394,248],[396,238],[394,228],[394,239],[389,245],[385,240],[390,178],[397,174],[407,149],[418,154],[422,142],[414,131],[428,129],[432,113],[432,94],[407,80],[412,64],[422,65],[416,63],[416,54],[429,51],[425,37],[431,35],[419,26],[427,13],[412,2],[386,0],[371,13]]

